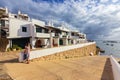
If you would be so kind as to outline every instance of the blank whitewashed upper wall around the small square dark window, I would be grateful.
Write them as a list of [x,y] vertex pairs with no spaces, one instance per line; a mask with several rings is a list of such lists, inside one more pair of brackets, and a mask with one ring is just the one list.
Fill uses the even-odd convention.
[[[27,27],[27,32],[22,32],[22,27]],[[30,37],[31,36],[31,22],[19,20],[16,18],[9,18],[9,37]]]

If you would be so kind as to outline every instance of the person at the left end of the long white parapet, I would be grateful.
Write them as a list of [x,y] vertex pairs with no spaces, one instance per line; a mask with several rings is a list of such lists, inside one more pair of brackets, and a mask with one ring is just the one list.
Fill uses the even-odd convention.
[[30,57],[30,44],[27,43],[25,45],[25,49],[24,49],[24,52],[23,52],[23,60],[25,63],[29,64],[29,57]]

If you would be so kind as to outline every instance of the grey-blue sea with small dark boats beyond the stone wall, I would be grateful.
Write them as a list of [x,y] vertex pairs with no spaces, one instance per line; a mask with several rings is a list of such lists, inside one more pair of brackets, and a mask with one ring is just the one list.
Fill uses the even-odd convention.
[[114,56],[120,58],[120,40],[95,40],[97,46],[105,52],[100,55]]

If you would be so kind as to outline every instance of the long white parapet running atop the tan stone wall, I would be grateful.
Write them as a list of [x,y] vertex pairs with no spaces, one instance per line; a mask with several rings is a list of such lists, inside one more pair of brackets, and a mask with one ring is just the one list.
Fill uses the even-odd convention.
[[30,59],[39,58],[42,56],[51,55],[51,54],[55,54],[55,53],[62,52],[62,51],[67,51],[70,49],[80,48],[80,47],[88,46],[91,44],[95,44],[95,42],[31,51],[30,52]]

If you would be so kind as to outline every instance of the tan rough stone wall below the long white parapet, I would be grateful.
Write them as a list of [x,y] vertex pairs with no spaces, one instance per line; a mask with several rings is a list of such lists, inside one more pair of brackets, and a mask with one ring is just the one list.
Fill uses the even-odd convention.
[[52,55],[42,56],[34,60],[56,60],[56,59],[68,59],[68,58],[78,58],[83,56],[90,56],[90,53],[96,55],[96,44],[91,44],[81,48],[71,49],[64,52],[55,53]]

